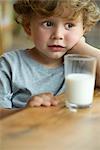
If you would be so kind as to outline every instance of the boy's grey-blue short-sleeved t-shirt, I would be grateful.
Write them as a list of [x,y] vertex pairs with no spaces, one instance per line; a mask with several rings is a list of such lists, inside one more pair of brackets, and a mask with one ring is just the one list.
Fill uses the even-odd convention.
[[16,50],[0,57],[0,107],[25,107],[30,97],[64,91],[63,65],[47,68],[33,60],[27,50]]

